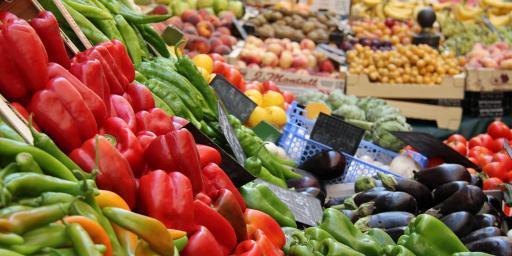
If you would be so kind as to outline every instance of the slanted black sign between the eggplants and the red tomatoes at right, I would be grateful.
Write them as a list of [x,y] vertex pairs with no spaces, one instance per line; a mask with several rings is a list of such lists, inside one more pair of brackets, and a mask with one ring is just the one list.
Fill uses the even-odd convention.
[[480,170],[480,167],[469,161],[466,156],[459,154],[459,152],[453,150],[431,134],[424,132],[392,132],[392,134],[426,157],[440,157],[447,163],[460,164]]

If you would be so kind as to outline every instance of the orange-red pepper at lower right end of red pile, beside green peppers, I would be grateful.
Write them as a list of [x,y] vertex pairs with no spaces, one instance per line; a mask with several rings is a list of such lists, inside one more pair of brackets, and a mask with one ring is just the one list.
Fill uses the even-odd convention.
[[286,243],[284,233],[279,224],[270,215],[248,208],[245,210],[244,216],[245,223],[251,226],[251,230],[263,231],[277,248],[284,246]]

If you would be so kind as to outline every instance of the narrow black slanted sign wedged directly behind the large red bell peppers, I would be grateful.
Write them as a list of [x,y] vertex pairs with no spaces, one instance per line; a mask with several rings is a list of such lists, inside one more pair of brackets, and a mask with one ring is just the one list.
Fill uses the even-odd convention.
[[233,184],[237,187],[241,187],[248,182],[251,182],[255,179],[248,171],[244,169],[242,165],[240,165],[237,160],[235,160],[229,153],[227,153],[224,149],[222,149],[219,145],[213,142],[208,136],[202,133],[197,127],[188,123],[184,128],[189,130],[192,135],[194,135],[194,140],[197,144],[203,144],[206,146],[213,147],[217,149],[221,156],[222,162],[220,164],[220,168],[224,170]]

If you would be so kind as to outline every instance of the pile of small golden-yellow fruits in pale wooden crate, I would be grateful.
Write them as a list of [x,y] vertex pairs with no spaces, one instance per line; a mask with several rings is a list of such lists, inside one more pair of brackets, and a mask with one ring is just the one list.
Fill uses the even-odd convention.
[[459,74],[464,60],[427,45],[398,45],[389,51],[356,45],[347,62],[351,74],[368,75],[371,82],[440,84],[444,77]]

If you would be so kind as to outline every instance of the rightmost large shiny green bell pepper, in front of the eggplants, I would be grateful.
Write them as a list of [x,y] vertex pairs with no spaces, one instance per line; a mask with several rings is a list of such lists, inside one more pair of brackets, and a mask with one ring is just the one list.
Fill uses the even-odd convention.
[[405,229],[398,244],[417,256],[450,256],[468,249],[442,221],[436,217],[421,214],[414,218]]

